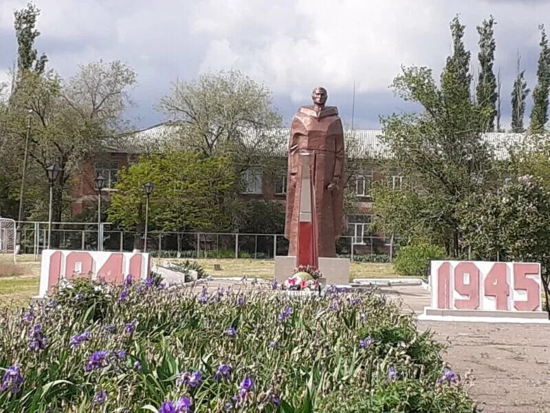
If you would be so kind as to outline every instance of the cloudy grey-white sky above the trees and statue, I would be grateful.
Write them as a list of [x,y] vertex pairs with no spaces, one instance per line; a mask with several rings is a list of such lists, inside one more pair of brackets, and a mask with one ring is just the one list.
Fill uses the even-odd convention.
[[[0,80],[8,78],[17,43],[13,10],[25,0],[0,0]],[[550,28],[545,0],[35,0],[42,13],[36,42],[62,76],[78,65],[120,59],[137,72],[136,127],[163,120],[154,106],[170,82],[203,72],[239,69],[265,83],[288,123],[324,85],[329,105],[355,127],[380,127],[379,116],[412,109],[388,88],[401,65],[431,67],[439,78],[450,53],[449,22],[461,14],[477,72],[476,25],[493,14],[496,68],[502,78],[503,124],[518,51],[529,87],[536,81],[538,25]],[[543,21],[542,19],[547,19]],[[532,99],[528,98],[527,116]],[[527,118],[526,116],[526,118]],[[526,119],[527,121],[527,119]]]

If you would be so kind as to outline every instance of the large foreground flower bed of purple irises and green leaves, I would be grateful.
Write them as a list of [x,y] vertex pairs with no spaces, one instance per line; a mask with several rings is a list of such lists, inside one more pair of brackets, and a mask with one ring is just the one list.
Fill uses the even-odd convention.
[[0,411],[475,409],[441,345],[377,295],[79,281],[0,327]]

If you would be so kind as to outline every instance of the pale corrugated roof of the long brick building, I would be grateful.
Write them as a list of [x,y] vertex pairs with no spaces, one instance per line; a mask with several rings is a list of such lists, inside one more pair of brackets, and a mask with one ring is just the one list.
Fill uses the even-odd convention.
[[[250,149],[272,151],[274,156],[286,156],[289,128],[277,129],[241,129],[242,143]],[[381,139],[380,129],[355,129],[345,131],[347,153],[350,158],[391,158],[389,145]],[[181,127],[173,123],[163,123],[148,129],[135,131],[118,138],[109,147],[113,151],[124,153],[147,153],[158,151],[178,138],[181,141]],[[536,143],[526,134],[491,132],[482,135],[482,139],[494,150],[498,160],[509,157],[509,149],[522,146],[534,149]]]

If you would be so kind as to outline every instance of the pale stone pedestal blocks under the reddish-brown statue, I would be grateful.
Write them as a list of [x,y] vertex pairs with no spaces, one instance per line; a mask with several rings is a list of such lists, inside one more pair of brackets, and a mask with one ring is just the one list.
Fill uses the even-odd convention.
[[[278,255],[275,257],[275,279],[283,282],[292,276],[296,268],[296,257]],[[349,260],[347,258],[319,257],[319,271],[327,285],[349,285]]]

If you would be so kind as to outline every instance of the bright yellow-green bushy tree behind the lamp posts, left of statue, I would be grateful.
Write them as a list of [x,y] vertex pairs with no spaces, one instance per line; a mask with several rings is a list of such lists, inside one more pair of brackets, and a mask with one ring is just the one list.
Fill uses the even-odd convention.
[[231,160],[190,151],[170,150],[144,156],[119,174],[109,220],[135,231],[135,246],[143,232],[143,185],[153,182],[149,222],[162,231],[223,231],[230,226],[226,213],[238,187]]

